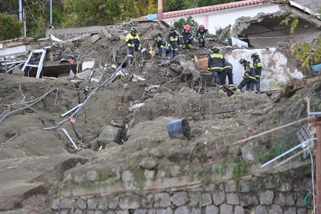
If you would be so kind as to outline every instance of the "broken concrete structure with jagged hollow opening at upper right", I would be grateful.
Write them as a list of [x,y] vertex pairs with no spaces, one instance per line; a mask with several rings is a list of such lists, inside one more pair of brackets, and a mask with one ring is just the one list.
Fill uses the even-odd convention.
[[[290,33],[290,26],[280,24],[290,14],[297,15],[299,20],[294,33]],[[277,13],[258,13],[254,17],[238,18],[232,27],[231,36],[248,38],[249,45],[254,47],[290,47],[300,41],[315,41],[321,33],[320,26],[321,20],[313,15],[288,4],[279,4]],[[264,39],[260,39],[262,37]]]

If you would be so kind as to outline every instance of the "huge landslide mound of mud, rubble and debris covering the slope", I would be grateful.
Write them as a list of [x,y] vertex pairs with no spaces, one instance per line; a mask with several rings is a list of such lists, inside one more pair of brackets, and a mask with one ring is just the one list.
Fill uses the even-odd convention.
[[[168,32],[158,22],[151,23],[138,26],[145,47]],[[147,55],[145,64],[138,61],[137,67],[133,63],[126,68],[125,38],[131,25],[111,25],[107,32],[64,41],[54,37],[11,41],[17,42],[16,47],[28,41],[32,49],[44,48],[47,54],[42,78],[28,77],[35,76],[36,70],[31,69],[20,75],[0,74],[0,172],[4,175],[0,211],[53,213],[66,206],[70,209],[66,212],[74,212],[74,199],[67,205],[69,199],[63,198],[82,194],[83,189],[91,191],[86,195],[100,195],[94,187],[115,185],[115,192],[125,193],[143,190],[146,180],[161,186],[161,179],[180,176],[209,184],[211,176],[220,182],[233,179],[239,163],[247,165],[242,175],[270,173],[270,168],[259,170],[259,163],[270,158],[262,157],[272,153],[275,141],[292,140],[293,135],[277,132],[246,145],[232,143],[304,117],[306,95],[318,96],[319,76],[290,80],[273,100],[254,92],[232,94],[212,85],[211,75],[196,71],[194,56],[207,54],[196,48],[168,64],[161,58],[151,61]],[[9,68],[8,58],[26,60],[30,50],[1,59],[3,70],[16,67],[13,74],[19,74],[15,70],[22,65]],[[140,53],[136,54],[138,60]],[[317,109],[318,102],[313,105]],[[168,136],[168,123],[181,117],[189,120],[190,141]],[[297,168],[305,166],[306,161],[298,161]],[[220,170],[224,177],[217,175]],[[117,189],[123,188],[121,180],[132,179],[134,186],[126,183],[125,190]],[[146,188],[153,190],[147,184]]]

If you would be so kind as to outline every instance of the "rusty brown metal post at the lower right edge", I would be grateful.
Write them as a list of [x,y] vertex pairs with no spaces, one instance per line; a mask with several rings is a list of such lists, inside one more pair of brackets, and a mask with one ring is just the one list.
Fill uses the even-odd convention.
[[316,198],[316,214],[321,214],[321,122],[315,122],[316,126],[316,183],[317,183],[317,198]]

